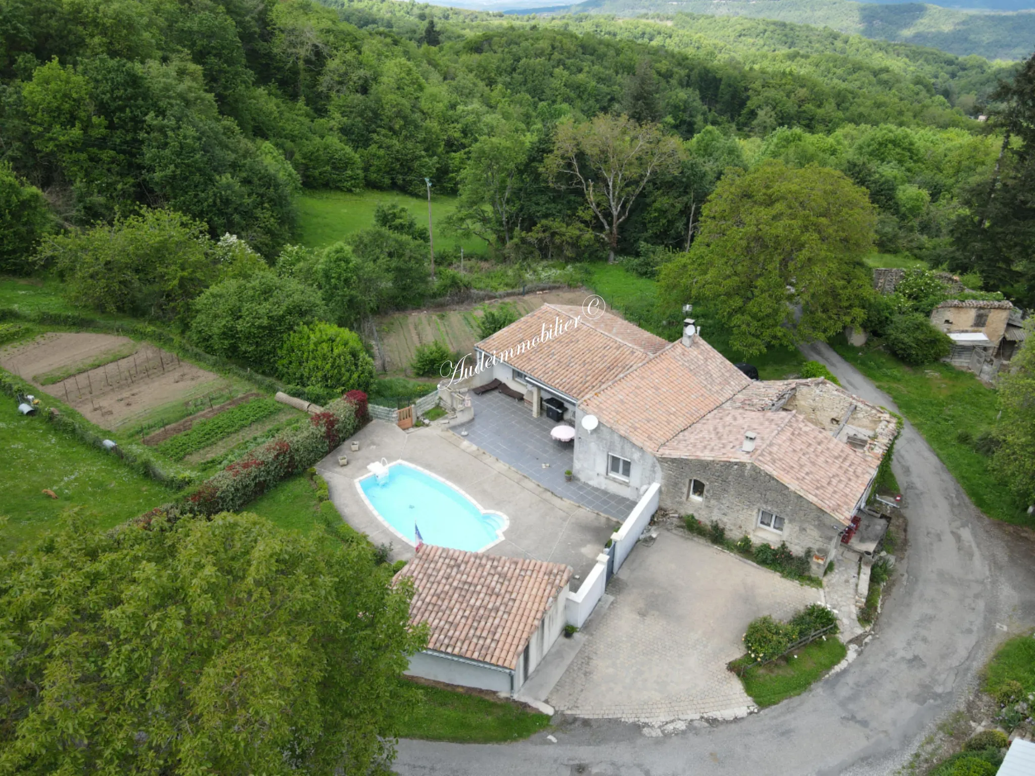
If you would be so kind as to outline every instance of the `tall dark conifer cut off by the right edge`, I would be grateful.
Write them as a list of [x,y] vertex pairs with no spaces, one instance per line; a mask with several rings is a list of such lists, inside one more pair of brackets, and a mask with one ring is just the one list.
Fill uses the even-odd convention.
[[1003,144],[990,178],[966,191],[953,225],[954,270],[977,271],[985,287],[1035,305],[1035,56],[993,95]]

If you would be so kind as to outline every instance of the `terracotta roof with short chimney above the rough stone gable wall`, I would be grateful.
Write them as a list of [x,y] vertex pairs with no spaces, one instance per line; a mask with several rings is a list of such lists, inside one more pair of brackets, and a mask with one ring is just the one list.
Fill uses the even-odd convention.
[[[745,431],[757,436],[744,452]],[[796,412],[719,408],[663,445],[659,454],[753,464],[848,525],[877,474],[878,456],[858,452]]]

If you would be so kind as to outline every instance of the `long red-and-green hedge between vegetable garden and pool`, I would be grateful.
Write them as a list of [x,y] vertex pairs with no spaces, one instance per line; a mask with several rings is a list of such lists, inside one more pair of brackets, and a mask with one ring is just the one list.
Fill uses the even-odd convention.
[[354,402],[346,399],[332,401],[324,412],[310,416],[307,423],[288,428],[253,448],[194,493],[146,512],[138,521],[150,525],[159,514],[175,520],[184,514],[240,511],[280,480],[317,464],[351,437],[359,427],[356,409]]

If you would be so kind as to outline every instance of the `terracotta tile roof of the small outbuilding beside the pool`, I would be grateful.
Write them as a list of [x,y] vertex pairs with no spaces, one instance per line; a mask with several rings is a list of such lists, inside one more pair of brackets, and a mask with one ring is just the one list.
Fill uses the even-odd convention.
[[424,544],[395,574],[413,579],[410,622],[426,622],[427,649],[516,668],[571,568]]

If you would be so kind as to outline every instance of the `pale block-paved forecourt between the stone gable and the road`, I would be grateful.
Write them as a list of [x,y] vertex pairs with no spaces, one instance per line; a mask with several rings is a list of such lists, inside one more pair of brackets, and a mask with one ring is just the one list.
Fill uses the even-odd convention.
[[581,717],[641,722],[733,717],[752,706],[726,664],[747,624],[786,619],[823,592],[672,531],[638,545],[611,580],[615,600],[548,702]]

